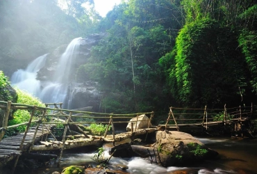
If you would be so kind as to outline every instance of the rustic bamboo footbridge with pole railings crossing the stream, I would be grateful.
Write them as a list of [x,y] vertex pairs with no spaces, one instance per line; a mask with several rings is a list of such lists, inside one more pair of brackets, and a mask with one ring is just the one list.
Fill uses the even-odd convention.
[[[58,166],[63,155],[63,150],[71,148],[80,148],[87,145],[101,145],[103,143],[123,141],[131,139],[134,136],[147,135],[156,130],[176,130],[187,132],[188,129],[201,129],[208,132],[208,129],[217,129],[215,127],[233,125],[235,130],[242,129],[244,122],[251,119],[253,113],[252,104],[243,109],[239,107],[224,109],[186,109],[170,107],[167,120],[158,126],[151,125],[154,118],[154,112],[115,114],[115,113],[94,113],[89,111],[77,111],[62,109],[62,103],[50,103],[42,106],[31,106],[27,104],[18,104],[12,102],[1,102],[0,109],[5,111],[3,118],[3,127],[0,127],[0,167],[6,165],[9,161],[14,162],[13,173],[19,157],[22,155],[35,155],[35,152],[60,150],[58,155]],[[8,116],[11,111],[24,109],[31,113],[28,122],[19,125],[8,126]],[[38,114],[39,113],[39,114]],[[145,115],[148,120],[140,120],[140,116]],[[86,121],[93,118],[97,121]],[[133,118],[133,120],[131,120]],[[99,121],[98,121],[99,120]],[[147,126],[138,127],[140,122],[147,121]],[[115,134],[117,124],[126,124],[130,122],[131,130]],[[79,125],[99,123],[107,125],[104,136],[93,136],[85,132]],[[165,124],[164,124],[165,123]],[[12,129],[26,125],[26,130],[22,134],[9,136],[3,139],[7,129]],[[61,139],[57,139],[56,125],[64,125]],[[112,131],[108,131],[111,127]],[[75,134],[72,131],[76,130]],[[218,128],[219,129],[219,128]],[[250,130],[247,130],[251,134]],[[69,135],[67,135],[69,132]],[[73,132],[74,133],[74,132]],[[252,134],[251,134],[252,135]],[[253,136],[253,135],[252,135]]]

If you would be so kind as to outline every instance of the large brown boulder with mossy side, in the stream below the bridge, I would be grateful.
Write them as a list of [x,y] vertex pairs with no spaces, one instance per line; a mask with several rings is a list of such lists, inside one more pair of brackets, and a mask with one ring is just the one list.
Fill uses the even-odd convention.
[[174,164],[187,164],[204,159],[215,158],[218,153],[204,146],[203,143],[194,139],[190,134],[184,132],[165,131],[156,132],[156,143],[154,148],[157,157],[152,157],[153,161],[162,166],[172,166]]

